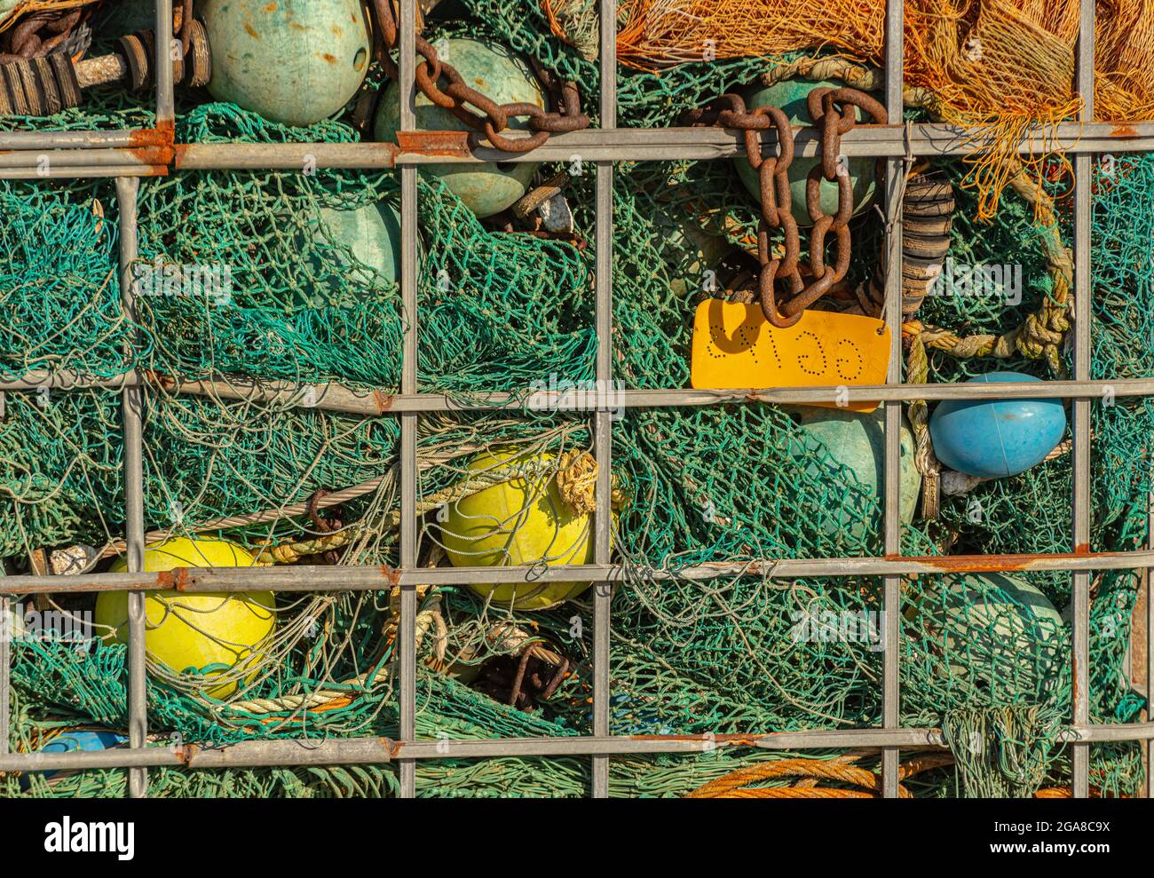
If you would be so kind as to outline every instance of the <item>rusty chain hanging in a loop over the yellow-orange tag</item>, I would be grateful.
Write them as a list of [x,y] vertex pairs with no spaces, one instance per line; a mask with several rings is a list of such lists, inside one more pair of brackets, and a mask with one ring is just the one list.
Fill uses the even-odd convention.
[[[814,89],[807,103],[814,127],[822,134],[820,162],[805,180],[805,208],[814,220],[808,264],[801,261],[801,239],[793,216],[788,173],[794,158],[794,133],[786,114],[774,106],[747,110],[744,99],[732,92],[689,114],[690,125],[718,125],[744,132],[745,157],[757,172],[762,196],[762,217],[757,226],[757,260],[762,269],[758,297],[765,318],[780,329],[797,323],[804,309],[829,293],[849,270],[849,218],[854,212],[854,194],[849,170],[841,158],[841,136],[856,125],[855,108],[872,117],[876,125],[889,121],[885,107],[857,89]],[[770,128],[778,135],[778,155],[763,157],[760,133]],[[838,185],[838,210],[832,215],[822,210],[823,179]],[[785,254],[774,258],[770,235],[778,228]],[[837,246],[837,260],[832,265],[825,261],[831,233]],[[784,295],[779,290],[782,283],[787,287]]]

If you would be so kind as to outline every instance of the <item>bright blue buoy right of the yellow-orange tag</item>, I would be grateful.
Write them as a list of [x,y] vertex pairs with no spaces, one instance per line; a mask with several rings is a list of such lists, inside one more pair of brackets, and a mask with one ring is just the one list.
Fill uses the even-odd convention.
[[[992,372],[966,383],[1039,381],[1018,372]],[[966,475],[1003,479],[1042,463],[1066,432],[1061,399],[946,400],[930,417],[934,451]]]

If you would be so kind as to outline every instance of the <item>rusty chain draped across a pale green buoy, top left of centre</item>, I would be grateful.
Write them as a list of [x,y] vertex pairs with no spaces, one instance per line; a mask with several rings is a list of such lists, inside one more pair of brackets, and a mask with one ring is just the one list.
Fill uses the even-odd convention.
[[[399,77],[396,63],[389,52],[399,45],[397,18],[392,0],[372,0],[370,8],[376,27],[376,58],[391,80]],[[589,117],[580,110],[580,95],[574,82],[561,82],[552,73],[534,62],[533,68],[546,91],[560,107],[555,112],[542,110],[535,104],[497,104],[475,89],[465,84],[452,65],[443,61],[433,45],[417,35],[417,52],[421,60],[417,65],[417,88],[436,106],[443,107],[475,132],[484,134],[489,143],[504,152],[529,152],[542,145],[550,134],[567,134],[589,127]],[[444,85],[440,85],[444,81]],[[474,107],[473,112],[469,107]],[[479,114],[478,114],[479,113]],[[525,118],[533,130],[529,137],[503,137],[501,132],[509,127],[511,119]]]

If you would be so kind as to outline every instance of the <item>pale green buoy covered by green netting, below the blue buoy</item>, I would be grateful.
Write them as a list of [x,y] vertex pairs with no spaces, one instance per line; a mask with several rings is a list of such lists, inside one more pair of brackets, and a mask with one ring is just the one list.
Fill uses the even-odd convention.
[[1057,675],[1062,615],[1036,587],[1005,573],[950,576],[927,590],[919,615],[943,671],[996,699],[1040,693]]

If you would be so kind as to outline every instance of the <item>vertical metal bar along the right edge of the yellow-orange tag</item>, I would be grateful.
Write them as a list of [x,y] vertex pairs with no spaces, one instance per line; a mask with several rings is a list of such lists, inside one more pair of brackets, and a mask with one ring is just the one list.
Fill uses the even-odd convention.
[[[901,121],[904,104],[902,59],[905,58],[905,10],[901,0],[887,0],[885,20],[885,108],[890,122]],[[901,198],[906,166],[900,159],[885,163],[886,235],[885,322],[890,328],[890,370],[886,383],[900,384],[901,373]],[[885,404],[885,554],[901,551],[901,403]],[[901,578],[885,577],[883,595],[882,722],[896,729],[901,722],[900,628]],[[882,795],[898,797],[896,746],[882,751]]]

